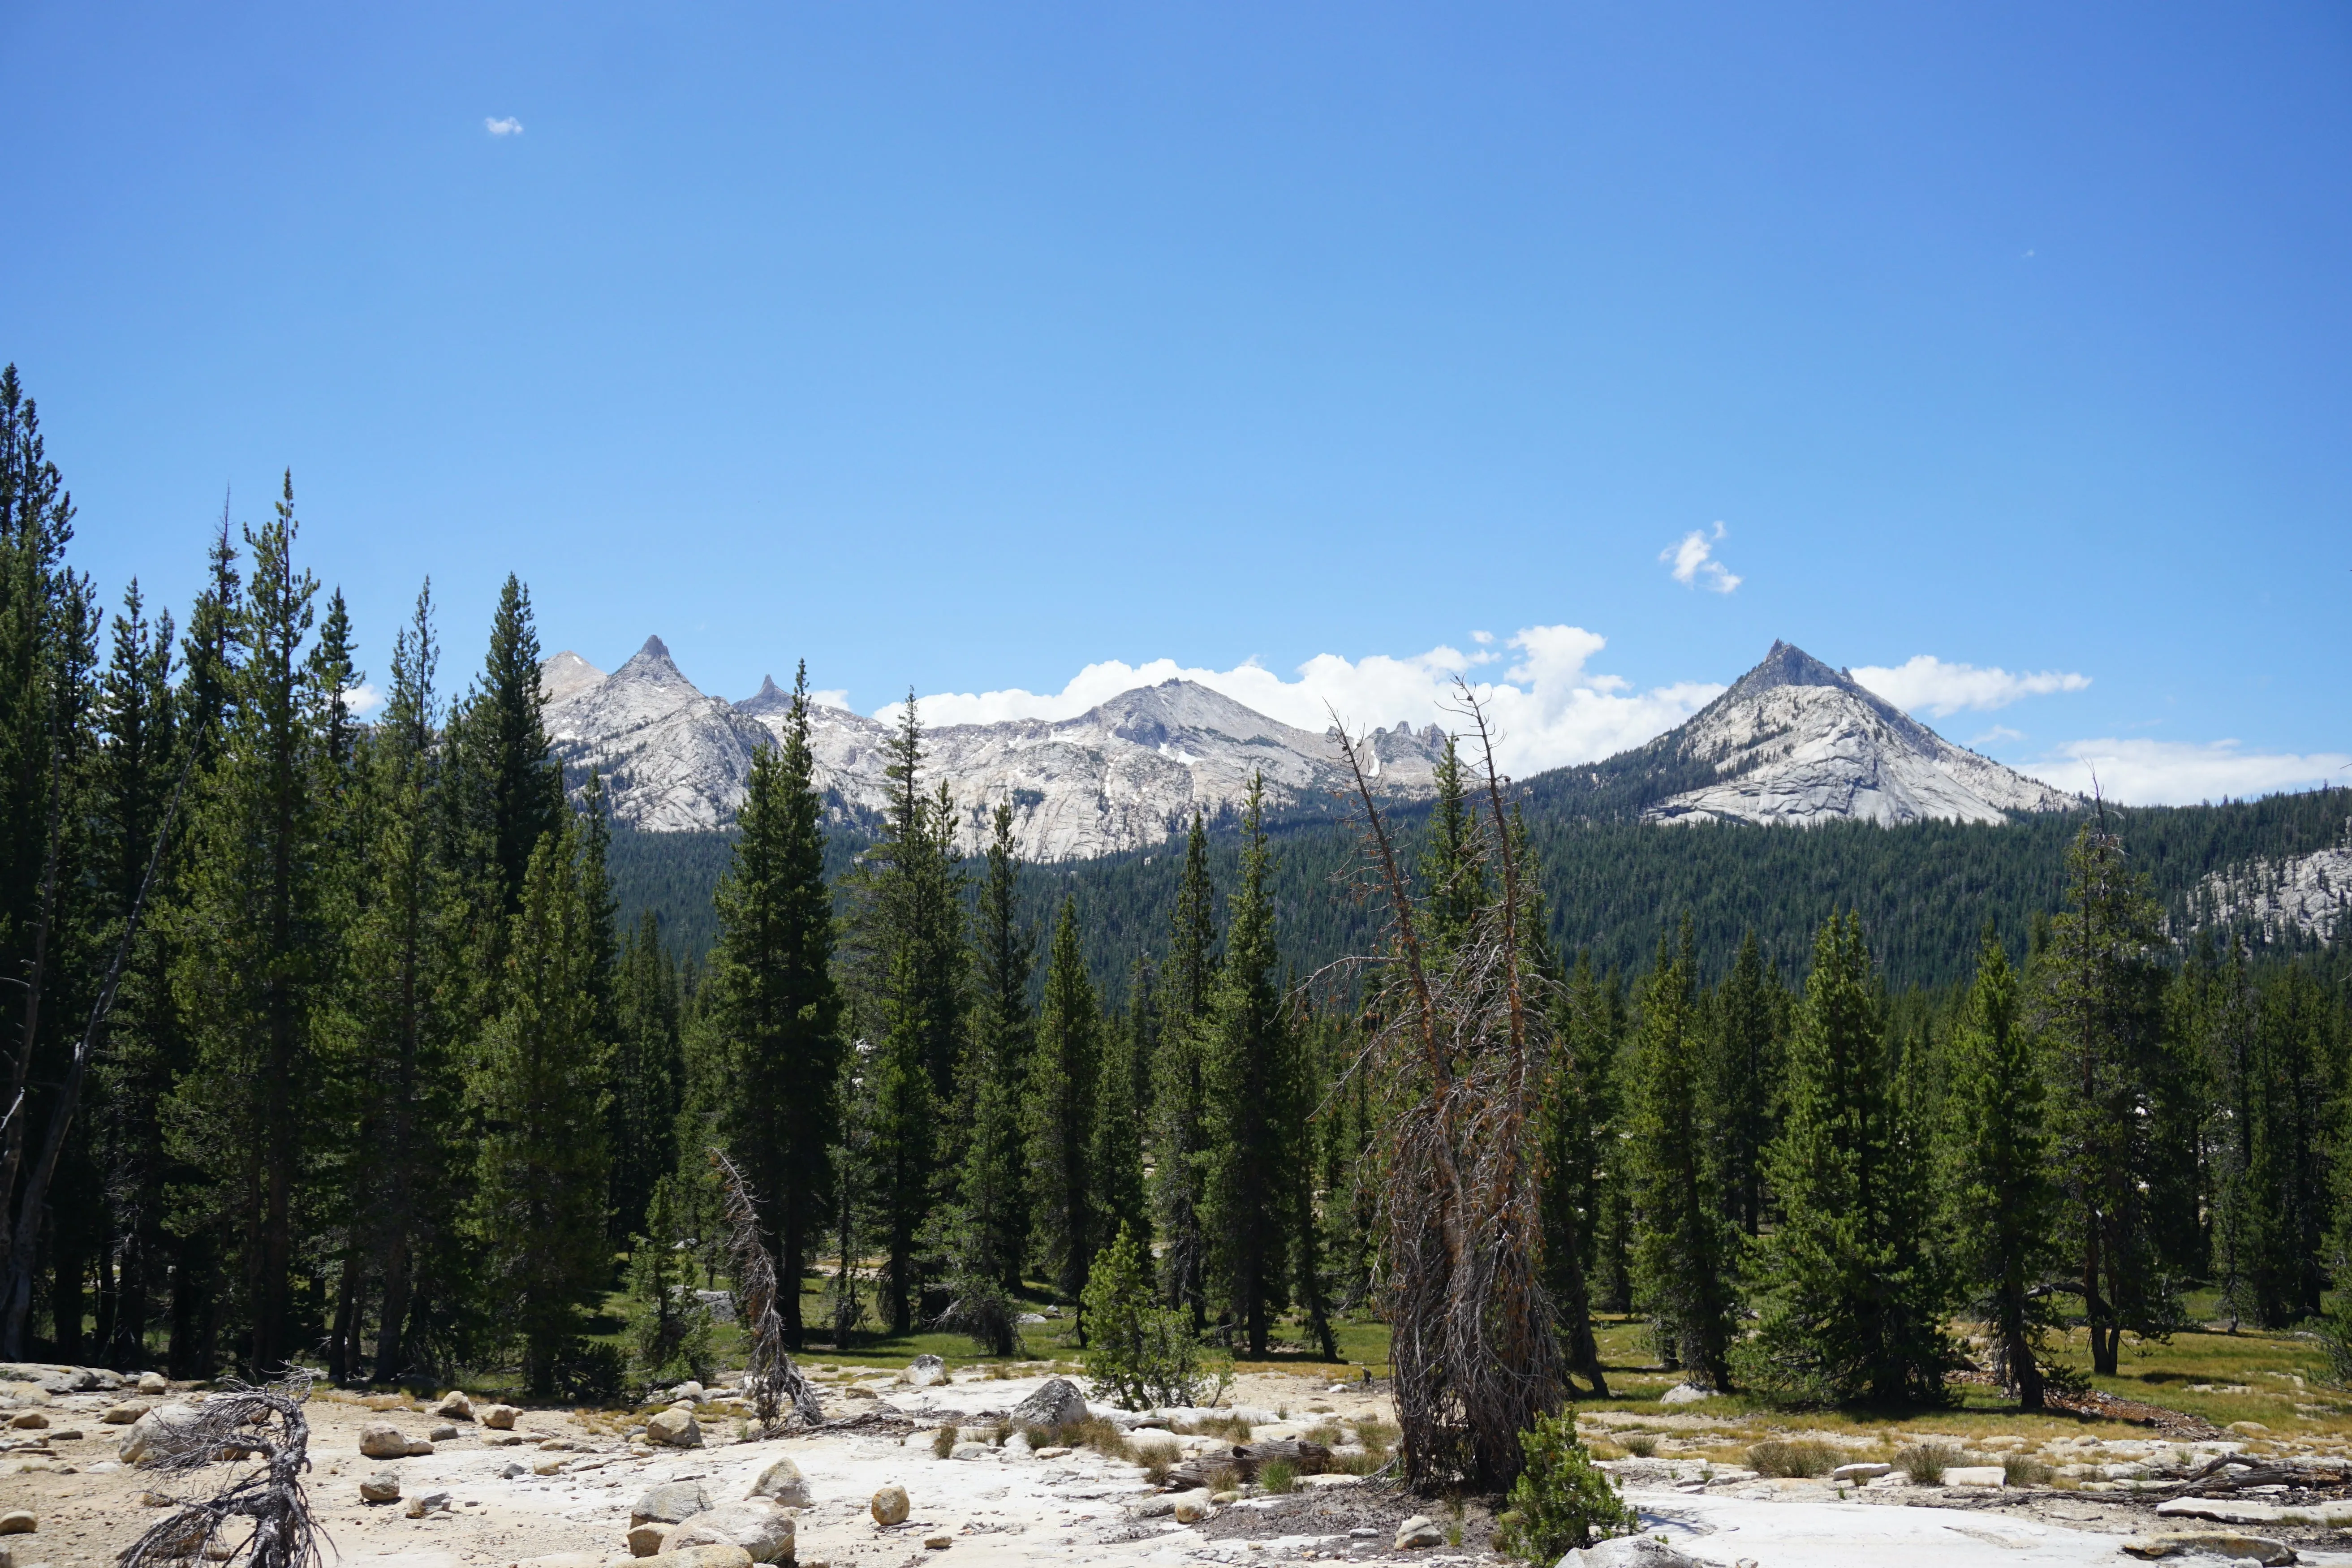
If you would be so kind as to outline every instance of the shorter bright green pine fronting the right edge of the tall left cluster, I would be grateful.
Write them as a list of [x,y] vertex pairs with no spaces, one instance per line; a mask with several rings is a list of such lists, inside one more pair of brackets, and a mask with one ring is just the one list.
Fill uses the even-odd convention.
[[604,1067],[595,1037],[595,933],[583,842],[564,823],[524,867],[506,943],[503,1011],[482,1039],[473,1105],[482,1150],[470,1229],[482,1286],[522,1342],[524,1385],[553,1394],[581,1312],[607,1281]]

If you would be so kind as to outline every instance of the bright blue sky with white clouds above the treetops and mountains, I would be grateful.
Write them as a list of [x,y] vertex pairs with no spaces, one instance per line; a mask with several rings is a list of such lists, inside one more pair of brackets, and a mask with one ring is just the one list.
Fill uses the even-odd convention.
[[372,668],[513,569],[724,696],[1461,670],[1529,769],[1785,637],[2067,783],[2352,778],[2340,5],[19,0],[0,103],[108,592],[292,465]]

